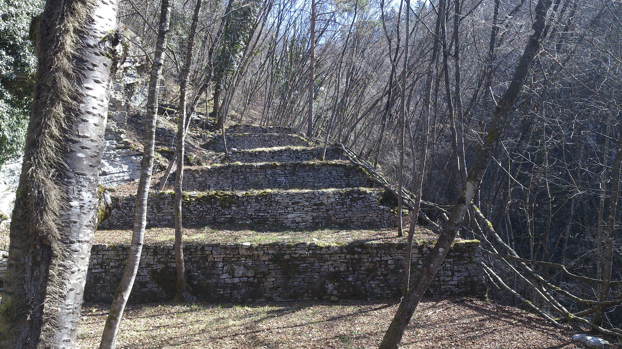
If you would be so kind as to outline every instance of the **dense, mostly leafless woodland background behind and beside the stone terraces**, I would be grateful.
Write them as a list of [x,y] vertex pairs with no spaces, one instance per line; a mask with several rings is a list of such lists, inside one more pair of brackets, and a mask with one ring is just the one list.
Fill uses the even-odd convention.
[[[23,142],[34,66],[28,53],[29,19],[41,8],[35,2],[2,1],[0,161],[19,153]],[[407,189],[413,188],[425,153],[422,199],[441,207],[453,204],[496,99],[508,86],[532,32],[535,4],[318,0],[315,6],[313,137],[343,143],[396,183],[403,170]],[[179,100],[194,7],[192,1],[172,5],[160,89],[161,102],[172,106]],[[309,9],[309,1],[299,0],[205,2],[188,80],[188,101],[196,102],[197,115],[209,114],[215,124],[252,122],[306,131]],[[145,67],[151,66],[158,19],[159,3],[121,1],[131,58]],[[611,196],[618,198],[611,191],[611,176],[622,127],[621,20],[620,1],[554,0],[542,50],[475,199],[518,255],[560,263],[596,279],[602,278],[608,233],[613,237],[611,279],[622,278],[620,226],[605,229]],[[145,88],[147,73],[143,78],[136,91]],[[140,119],[142,109],[130,114]],[[442,211],[424,208],[432,220],[443,222]],[[478,230],[484,223],[473,212],[469,217],[461,236],[484,238]],[[483,245],[490,249],[498,243]],[[519,294],[547,309],[508,266],[496,259],[487,263]],[[597,297],[595,284],[580,283],[554,268],[534,268],[578,297]],[[493,283],[490,296],[516,302]],[[566,306],[574,304],[575,311],[590,307],[572,303],[563,292],[557,297]],[[620,298],[618,286],[609,298]],[[605,322],[622,326],[619,305],[608,308]]]

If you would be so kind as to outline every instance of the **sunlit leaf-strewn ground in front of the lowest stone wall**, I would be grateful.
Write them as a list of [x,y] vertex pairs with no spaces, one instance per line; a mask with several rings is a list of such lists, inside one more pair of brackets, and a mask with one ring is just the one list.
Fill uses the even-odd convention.
[[[170,302],[128,306],[118,348],[377,348],[397,302]],[[83,349],[96,348],[107,306],[86,304],[78,327]],[[400,348],[569,349],[572,329],[509,306],[470,298],[424,299]]]

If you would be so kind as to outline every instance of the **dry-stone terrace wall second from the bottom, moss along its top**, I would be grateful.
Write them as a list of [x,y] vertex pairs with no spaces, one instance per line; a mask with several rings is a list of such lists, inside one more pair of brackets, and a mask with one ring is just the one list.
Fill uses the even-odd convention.
[[[100,229],[130,229],[134,220],[134,195],[113,197],[113,212]],[[381,203],[380,201],[383,201]],[[147,225],[172,227],[173,194],[162,192],[149,197]],[[185,226],[228,224],[268,224],[285,227],[395,227],[393,202],[384,199],[381,189],[326,189],[318,191],[258,191],[231,193],[215,191],[187,194],[183,198]]]

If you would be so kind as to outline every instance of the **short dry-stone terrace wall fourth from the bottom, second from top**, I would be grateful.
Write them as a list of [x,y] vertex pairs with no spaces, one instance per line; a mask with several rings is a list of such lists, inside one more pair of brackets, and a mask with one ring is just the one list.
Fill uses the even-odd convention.
[[[300,162],[322,159],[322,147],[307,148],[275,148],[270,150],[241,150],[233,152],[225,161],[241,163],[264,163],[264,162]],[[325,160],[347,160],[343,150],[337,147],[326,149]]]

